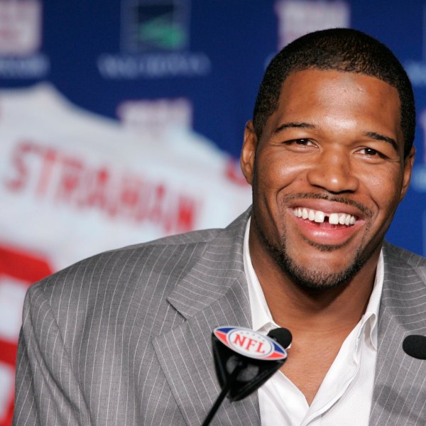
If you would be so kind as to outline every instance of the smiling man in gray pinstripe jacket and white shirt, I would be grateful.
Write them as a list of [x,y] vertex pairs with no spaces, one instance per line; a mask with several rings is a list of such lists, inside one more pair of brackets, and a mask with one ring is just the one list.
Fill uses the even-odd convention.
[[253,208],[226,229],[102,253],[33,285],[16,425],[200,425],[220,325],[293,333],[258,393],[216,425],[420,425],[426,262],[383,243],[413,168],[415,108],[388,48],[359,31],[295,40],[246,125]]

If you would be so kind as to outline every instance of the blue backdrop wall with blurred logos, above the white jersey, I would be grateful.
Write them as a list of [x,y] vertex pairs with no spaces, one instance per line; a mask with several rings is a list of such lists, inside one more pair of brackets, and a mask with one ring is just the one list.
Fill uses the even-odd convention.
[[425,1],[15,1],[40,6],[40,39],[0,56],[1,87],[48,80],[114,119],[124,100],[183,98],[193,129],[235,157],[266,63],[293,35],[346,25],[383,41],[413,81],[418,121],[413,184],[388,240],[425,253]]

